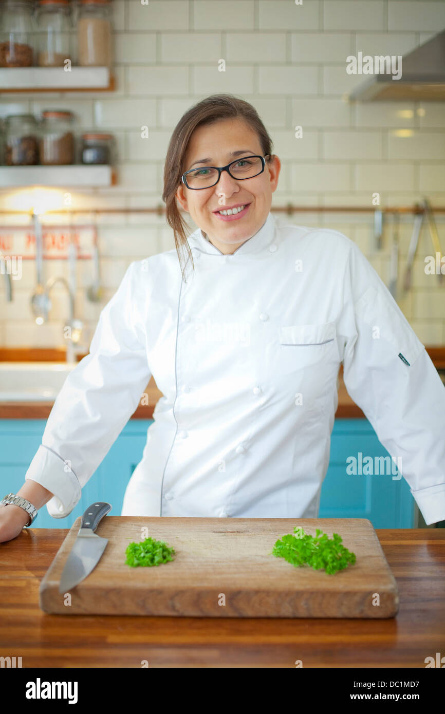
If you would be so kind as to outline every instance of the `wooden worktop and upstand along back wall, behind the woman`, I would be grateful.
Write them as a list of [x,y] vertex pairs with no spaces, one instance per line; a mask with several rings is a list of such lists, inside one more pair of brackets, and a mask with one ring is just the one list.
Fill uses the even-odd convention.
[[[445,347],[426,347],[426,351],[437,369],[445,369]],[[77,356],[78,361],[84,356],[83,354]],[[1,361],[63,362],[64,351],[57,349],[0,348]],[[153,377],[151,377],[144,393],[148,396],[148,400],[144,398],[144,402],[148,401],[148,403],[139,403],[131,419],[152,419],[156,402],[163,396],[162,392],[157,388]],[[47,419],[53,404],[53,401],[0,402],[0,419]],[[343,365],[340,365],[339,369],[339,406],[335,416],[337,419],[365,418],[361,408],[356,405],[346,391],[343,380]]]

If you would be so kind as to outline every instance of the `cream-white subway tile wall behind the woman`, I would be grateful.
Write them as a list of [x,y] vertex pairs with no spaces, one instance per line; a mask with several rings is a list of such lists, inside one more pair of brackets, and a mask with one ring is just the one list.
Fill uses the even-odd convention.
[[[71,216],[71,224],[97,226],[104,286],[101,303],[91,303],[86,288],[93,266],[78,261],[76,312],[87,326],[86,347],[129,263],[174,248],[164,216],[136,209],[164,206],[164,158],[171,131],[189,107],[219,91],[254,104],[271,134],[282,164],[273,205],[314,207],[310,213],[293,213],[291,221],[345,233],[386,284],[397,230],[399,306],[422,342],[445,343],[445,286],[424,271],[424,257],[434,254],[426,227],[414,261],[413,286],[404,294],[401,275],[412,214],[402,215],[399,226],[391,216],[385,218],[384,245],[376,251],[372,213],[347,211],[349,206],[371,208],[375,192],[381,206],[412,206],[424,196],[433,206],[445,206],[444,104],[350,102],[349,93],[366,77],[346,73],[351,54],[405,55],[444,29],[442,0],[114,0],[112,19],[115,91],[0,90],[1,118],[63,108],[74,112],[78,134],[104,130],[116,136],[116,185],[71,191],[71,205],[86,211]],[[219,71],[221,60],[225,71]],[[143,127],[148,129],[144,139]],[[61,189],[54,191],[54,207],[62,205],[63,195]],[[1,211],[29,210],[31,205],[26,189],[0,191]],[[317,206],[345,210],[321,213]],[[100,208],[135,212],[95,214]],[[64,220],[43,216],[45,225]],[[24,223],[24,218],[3,213],[0,223]],[[445,251],[444,213],[436,214],[436,224]],[[68,315],[63,286],[56,284],[51,292],[49,322],[36,326],[29,304],[36,283],[34,260],[24,260],[22,271],[21,280],[12,281],[11,303],[0,276],[0,345],[63,347]],[[66,261],[45,261],[44,279],[51,275],[67,277]]]

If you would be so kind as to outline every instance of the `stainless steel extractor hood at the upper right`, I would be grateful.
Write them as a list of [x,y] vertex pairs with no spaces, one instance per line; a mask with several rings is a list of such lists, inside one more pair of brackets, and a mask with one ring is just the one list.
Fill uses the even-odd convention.
[[[376,57],[375,62],[379,59],[382,67],[384,58]],[[393,79],[393,76],[372,74],[351,92],[349,99],[445,101],[445,30],[402,57],[401,77]]]

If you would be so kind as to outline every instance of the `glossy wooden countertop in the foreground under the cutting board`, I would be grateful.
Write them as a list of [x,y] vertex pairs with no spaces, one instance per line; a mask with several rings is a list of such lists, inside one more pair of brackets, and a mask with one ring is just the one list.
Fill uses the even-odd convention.
[[399,588],[387,620],[48,615],[39,585],[68,529],[1,543],[1,652],[24,668],[425,668],[444,653],[445,531],[377,530]]

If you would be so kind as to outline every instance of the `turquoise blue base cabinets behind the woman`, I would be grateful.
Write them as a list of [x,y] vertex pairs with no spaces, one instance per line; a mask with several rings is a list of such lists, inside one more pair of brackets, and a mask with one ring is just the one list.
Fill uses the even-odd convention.
[[[39,510],[36,528],[70,528],[93,501],[108,501],[110,516],[119,516],[126,485],[142,458],[149,419],[131,419],[104,461],[82,489],[81,501],[66,518]],[[0,483],[3,493],[16,493],[44,433],[44,419],[0,421]],[[404,478],[391,473],[347,473],[348,459],[388,457],[366,419],[337,419],[331,436],[329,470],[321,489],[320,518],[369,518],[374,528],[412,528],[414,498]]]

